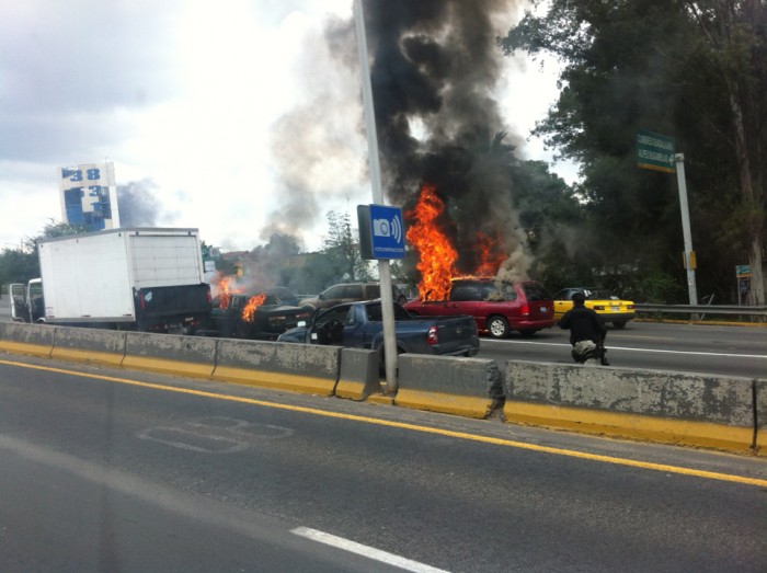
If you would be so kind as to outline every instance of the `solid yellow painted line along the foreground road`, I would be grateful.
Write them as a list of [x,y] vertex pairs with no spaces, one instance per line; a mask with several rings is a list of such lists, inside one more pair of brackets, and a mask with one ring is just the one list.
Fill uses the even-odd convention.
[[526,449],[529,451],[538,451],[538,452],[542,452],[542,454],[565,456],[569,458],[587,459],[587,460],[592,460],[592,461],[600,461],[604,463],[613,463],[616,466],[626,466],[629,468],[642,468],[642,469],[653,470],[653,471],[663,471],[666,473],[677,473],[680,475],[692,475],[696,478],[703,478],[703,479],[708,479],[708,480],[728,481],[728,482],[733,482],[733,483],[742,483],[742,484],[746,484],[746,485],[757,485],[759,488],[767,488],[767,480],[762,480],[758,478],[746,478],[744,475],[733,475],[730,473],[719,473],[716,471],[695,470],[695,469],[690,469],[690,468],[682,468],[678,466],[667,466],[665,463],[653,463],[653,462],[649,462],[649,461],[638,461],[638,460],[626,459],[626,458],[616,458],[614,456],[603,456],[600,454],[587,454],[584,451],[577,451],[577,450],[571,450],[571,449],[552,448],[549,446],[538,446],[536,444],[525,444],[524,442],[515,442],[512,439],[494,438],[494,437],[489,437],[489,436],[479,436],[476,434],[468,434],[465,432],[454,432],[451,429],[442,429],[442,428],[436,428],[436,427],[419,426],[415,424],[408,424],[404,422],[392,422],[389,420],[380,420],[380,419],[376,419],[376,417],[359,416],[359,415],[355,415],[355,414],[343,414],[340,412],[328,412],[325,410],[318,410],[314,408],[306,408],[306,406],[290,405],[290,404],[279,404],[276,402],[267,402],[265,400],[255,400],[252,398],[240,398],[237,396],[219,394],[216,392],[206,392],[203,390],[192,390],[188,388],[176,388],[173,386],[164,386],[164,385],[152,383],[152,382],[141,382],[138,380],[130,380],[127,378],[116,378],[114,376],[78,373],[75,370],[65,370],[62,368],[53,368],[49,366],[37,366],[37,365],[32,365],[32,364],[23,364],[23,363],[16,363],[16,362],[11,362],[11,360],[3,360],[3,359],[0,359],[0,364],[7,364],[9,366],[19,366],[21,368],[31,368],[31,369],[35,369],[35,370],[45,370],[45,371],[57,373],[57,374],[66,374],[66,375],[70,375],[70,376],[79,376],[82,378],[106,380],[110,382],[119,382],[119,383],[125,383],[125,385],[129,385],[129,386],[137,386],[140,388],[149,388],[152,390],[164,390],[168,392],[176,392],[176,393],[182,393],[182,394],[199,396],[203,398],[214,398],[216,400],[226,400],[226,401],[230,401],[230,402],[240,402],[240,403],[245,403],[245,404],[261,405],[261,406],[265,406],[265,408],[273,408],[275,410],[286,410],[289,412],[300,412],[300,413],[305,413],[305,414],[313,414],[313,415],[319,415],[319,416],[324,416],[324,417],[335,417],[335,419],[340,419],[340,420],[350,420],[353,422],[362,422],[365,424],[375,424],[375,425],[379,425],[379,426],[396,427],[396,428],[400,428],[400,429],[410,429],[413,432],[422,432],[424,434],[437,434],[437,435],[442,435],[442,436],[455,437],[455,438],[459,438],[459,439],[467,439],[467,440],[471,440],[471,442],[480,442],[483,444],[493,444],[496,446],[506,446],[506,447],[512,447],[512,448],[517,448],[517,449]]

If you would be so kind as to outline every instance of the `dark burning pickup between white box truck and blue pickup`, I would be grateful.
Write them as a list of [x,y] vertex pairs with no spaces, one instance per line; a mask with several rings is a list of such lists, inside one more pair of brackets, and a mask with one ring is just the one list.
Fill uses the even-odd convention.
[[278,288],[255,294],[226,293],[214,299],[211,329],[227,339],[276,340],[299,321],[308,321],[313,310],[284,303]]

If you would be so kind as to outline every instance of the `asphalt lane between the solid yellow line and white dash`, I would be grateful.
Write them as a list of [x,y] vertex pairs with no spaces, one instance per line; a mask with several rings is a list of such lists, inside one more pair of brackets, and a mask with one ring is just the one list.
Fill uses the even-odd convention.
[[[41,394],[51,401],[50,406],[44,404],[41,417],[89,397],[91,402],[59,414],[69,425],[67,439],[50,431],[41,434],[31,421],[34,416],[21,413],[10,424],[14,433],[48,439],[54,448],[99,462],[104,443],[96,436],[108,426],[110,467],[245,511],[290,516],[309,527],[445,569],[563,569],[577,563],[607,570],[629,563],[637,569],[705,571],[736,563],[743,570],[758,570],[766,559],[758,535],[765,509],[758,488],[261,403],[37,374],[36,381],[9,385],[3,370],[3,420],[7,408],[19,412],[27,401],[36,408]],[[99,390],[98,385],[113,390]],[[20,386],[28,392],[11,392],[10,400],[8,388]],[[78,386],[90,390],[82,392]],[[240,397],[251,390],[237,389]],[[313,401],[321,401],[322,408],[341,402],[347,409],[370,411],[366,404]],[[13,405],[7,406],[9,402]],[[57,410],[54,403],[66,408]],[[331,412],[341,413],[334,408]],[[48,426],[60,427],[62,422]],[[220,431],[210,429],[220,425],[239,428],[245,447],[217,451],[204,447],[221,439]],[[251,425],[285,428],[287,435],[247,440],[242,432]],[[201,427],[208,429],[195,434]],[[539,435],[557,439],[558,434]],[[225,437],[232,436],[225,433]],[[95,454],[82,448],[89,439]],[[638,446],[634,455],[639,451],[650,450]],[[729,460],[731,467],[744,459],[714,458]],[[764,470],[758,463],[754,468]]]

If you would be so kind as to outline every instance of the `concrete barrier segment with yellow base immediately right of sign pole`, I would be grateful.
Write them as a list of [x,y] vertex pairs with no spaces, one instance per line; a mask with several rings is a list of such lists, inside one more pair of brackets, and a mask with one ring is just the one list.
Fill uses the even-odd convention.
[[503,398],[495,360],[402,354],[394,404],[484,419]]

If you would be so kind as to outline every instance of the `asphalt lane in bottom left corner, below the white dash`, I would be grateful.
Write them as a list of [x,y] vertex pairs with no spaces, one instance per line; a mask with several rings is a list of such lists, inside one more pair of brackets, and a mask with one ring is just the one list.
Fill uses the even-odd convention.
[[396,571],[295,524],[4,435],[0,457],[2,571]]

